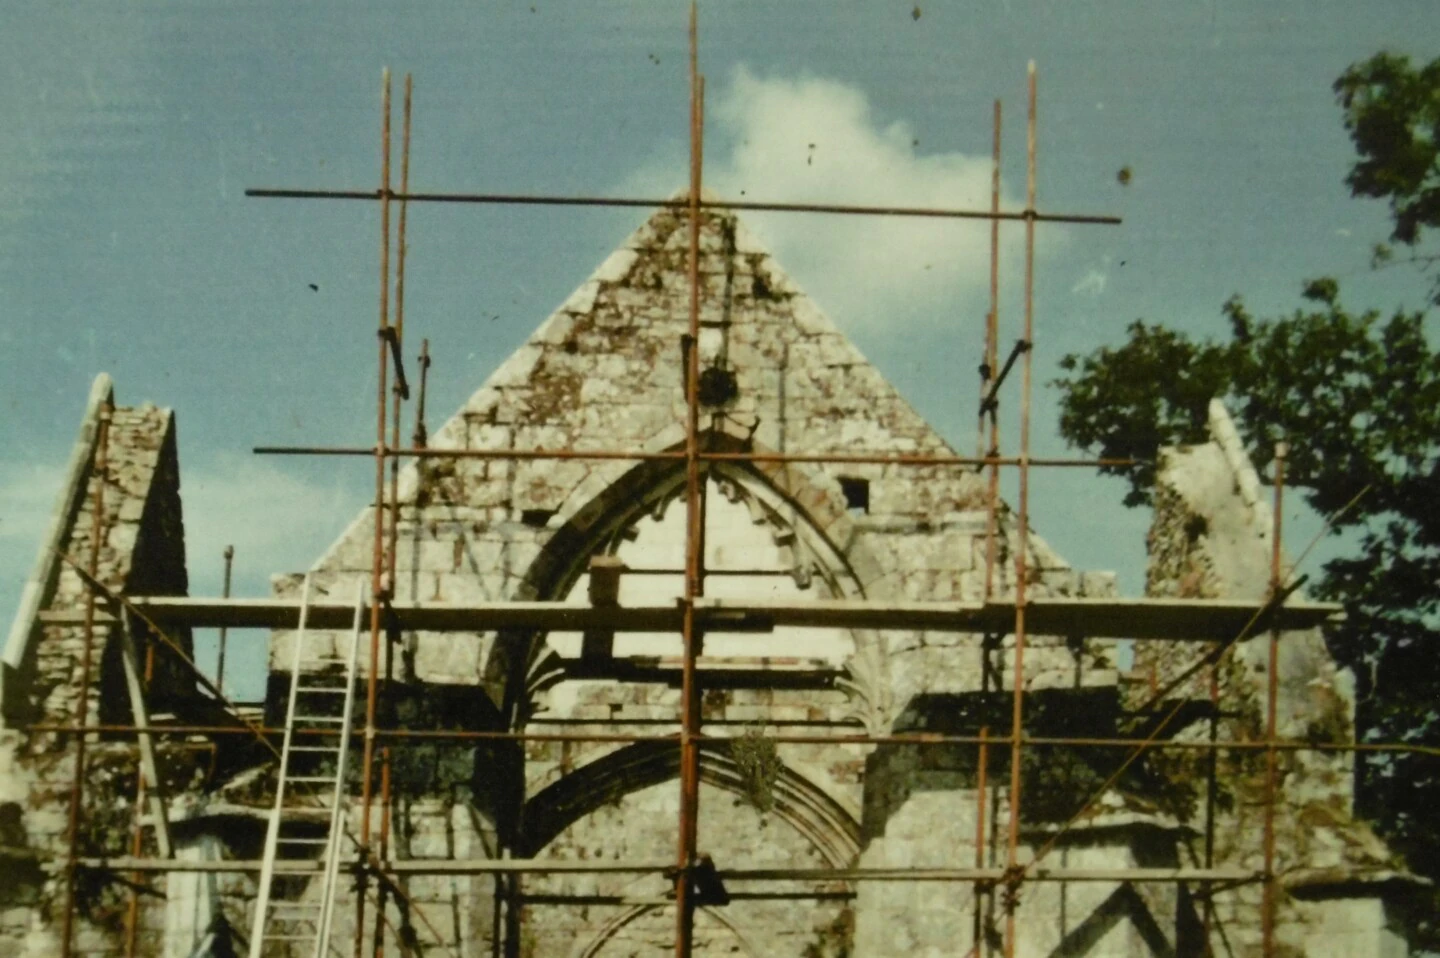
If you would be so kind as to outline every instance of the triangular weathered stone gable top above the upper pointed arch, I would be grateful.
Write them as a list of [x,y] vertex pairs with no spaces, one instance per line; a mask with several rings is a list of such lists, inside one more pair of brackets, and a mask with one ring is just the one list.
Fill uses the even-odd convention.
[[[687,418],[688,216],[681,205],[654,210],[433,431],[431,448],[639,454],[680,448]],[[700,218],[697,349],[701,376],[714,386],[701,408],[703,442],[805,457],[955,455],[733,210],[708,206]],[[955,467],[732,465],[792,496],[812,520],[821,513],[845,517],[854,501],[863,501],[858,511],[868,523],[969,526],[975,516],[984,524],[988,504],[985,481]],[[547,517],[556,529],[635,467],[634,460],[573,457],[420,460],[402,471],[400,504],[416,517],[439,503],[456,521]],[[861,498],[857,488],[864,488]],[[1001,516],[1004,526],[1004,507]],[[366,510],[317,568],[348,552],[346,543],[364,540],[369,524]]]

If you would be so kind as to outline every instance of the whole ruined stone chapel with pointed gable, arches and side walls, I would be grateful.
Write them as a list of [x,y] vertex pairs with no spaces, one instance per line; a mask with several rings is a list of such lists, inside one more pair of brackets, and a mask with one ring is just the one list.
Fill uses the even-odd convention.
[[[189,595],[176,415],[96,382],[4,648],[0,954],[629,958],[677,909],[716,957],[1408,954],[1224,408],[1117,596],[720,205],[690,337],[688,222],[268,599]],[[269,630],[262,709],[187,664],[217,625]]]

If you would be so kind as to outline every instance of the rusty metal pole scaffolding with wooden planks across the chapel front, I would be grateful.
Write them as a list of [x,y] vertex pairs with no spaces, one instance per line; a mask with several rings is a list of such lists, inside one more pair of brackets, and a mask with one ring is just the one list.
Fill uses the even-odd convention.
[[[1017,948],[1015,905],[1024,893],[1027,883],[1037,882],[1164,882],[1164,883],[1200,883],[1204,887],[1237,886],[1246,883],[1260,883],[1263,887],[1261,905],[1261,938],[1263,954],[1274,954],[1274,913],[1277,908],[1276,874],[1276,804],[1277,804],[1277,756],[1295,751],[1320,752],[1433,752],[1424,746],[1403,743],[1369,743],[1369,742],[1296,742],[1284,740],[1277,735],[1277,657],[1280,637],[1283,631],[1308,630],[1322,625],[1335,612],[1335,605],[1320,602],[1293,601],[1292,595],[1297,589],[1297,582],[1287,578],[1282,563],[1280,516],[1282,497],[1284,491],[1284,448],[1276,449],[1274,460],[1274,534],[1270,558],[1270,589],[1269,596],[1257,602],[1244,601],[1188,601],[1188,599],[1057,599],[1032,598],[1027,595],[1030,575],[1027,569],[1028,549],[1020,547],[1014,555],[1014,596],[1009,599],[996,598],[995,576],[998,566],[996,542],[1001,537],[999,511],[999,473],[1002,468],[1014,468],[1018,475],[1018,498],[1015,526],[1021,537],[1030,530],[1030,471],[1035,467],[1117,467],[1125,461],[1115,460],[1068,460],[1068,458],[1040,458],[1030,454],[1031,448],[1031,390],[1032,390],[1032,356],[1035,344],[1035,307],[1034,307],[1034,259],[1035,259],[1035,229],[1040,223],[1079,223],[1079,225],[1116,225],[1120,220],[1112,216],[1073,215],[1073,213],[1044,213],[1037,207],[1037,73],[1034,63],[1028,71],[1028,102],[1027,102],[1027,151],[1025,151],[1025,206],[1021,210],[1001,209],[1001,105],[994,107],[994,154],[991,180],[991,207],[988,210],[966,209],[927,209],[927,207],[899,207],[899,206],[844,206],[816,203],[770,203],[770,202],[732,202],[707,200],[701,196],[703,186],[703,140],[704,140],[704,78],[698,72],[697,30],[694,10],[691,10],[690,24],[690,186],[684,199],[613,199],[595,196],[541,196],[541,194],[485,194],[485,193],[410,193],[409,192],[409,157],[410,157],[410,117],[412,117],[412,84],[405,78],[403,91],[403,131],[400,147],[399,189],[392,183],[392,82],[389,72],[382,84],[382,134],[380,134],[380,184],[374,190],[291,190],[291,189],[256,189],[248,190],[248,196],[272,199],[307,199],[307,200],[357,200],[379,203],[380,209],[380,255],[379,255],[379,324],[377,324],[377,353],[376,353],[376,442],[373,448],[346,447],[261,447],[259,454],[275,455],[327,455],[327,457],[370,457],[374,467],[374,537],[372,547],[370,568],[370,604],[369,604],[369,658],[366,670],[366,686],[363,697],[363,725],[357,728],[363,733],[360,745],[360,795],[359,795],[359,833],[353,836],[353,860],[350,870],[357,879],[359,889],[354,895],[354,941],[353,954],[361,958],[376,946],[367,935],[367,889],[376,885],[376,918],[374,936],[379,941],[379,925],[384,922],[384,902],[387,896],[403,897],[405,890],[397,882],[408,874],[547,874],[547,873],[636,873],[664,874],[674,883],[671,897],[644,900],[639,903],[672,905],[675,909],[674,951],[680,958],[688,958],[694,945],[694,926],[697,909],[697,880],[708,870],[710,874],[729,882],[747,880],[844,880],[844,882],[953,882],[969,883],[976,890],[976,902],[981,896],[999,893],[1001,910],[1004,912],[1004,928],[1001,932],[1002,952],[1007,958],[1014,958]],[[684,448],[670,452],[641,452],[635,449],[435,449],[426,445],[425,431],[425,390],[426,370],[429,367],[429,343],[425,341],[419,352],[418,389],[412,390],[412,379],[405,366],[405,258],[406,258],[406,210],[409,203],[468,203],[468,205],[523,205],[523,206],[605,206],[605,207],[675,207],[684,212],[688,222],[688,334],[690,343],[698,341],[700,313],[701,313],[701,281],[700,281],[700,222],[701,213],[707,209],[724,210],[762,210],[782,213],[809,215],[844,215],[844,216],[888,216],[888,218],[940,218],[940,219],[971,219],[984,220],[991,225],[989,232],[989,310],[985,323],[985,339],[982,347],[981,382],[979,382],[979,413],[978,413],[978,444],[976,455],[901,455],[888,452],[854,452],[835,455],[798,455],[798,454],[760,454],[760,452],[720,452],[703,448],[703,434],[700,426],[701,400],[698,395],[700,383],[700,353],[698,349],[685,349],[684,363],[684,398],[685,398],[685,441]],[[397,210],[397,223],[392,229],[392,209]],[[1002,222],[1017,222],[1024,226],[1024,307],[1021,331],[1005,360],[999,354],[999,225]],[[392,249],[395,255],[392,255]],[[393,261],[393,262],[392,262]],[[392,320],[393,313],[393,320]],[[999,399],[1002,388],[1018,370],[1020,392],[1020,437],[1018,448],[1011,455],[1001,452],[999,429]],[[400,419],[403,403],[412,399],[412,392],[418,402],[415,431],[409,445],[400,437]],[[105,470],[108,416],[101,412],[99,431],[95,448],[95,470]],[[602,461],[672,461],[684,467],[684,507],[685,507],[685,568],[684,592],[678,605],[655,606],[562,606],[557,602],[491,602],[491,604],[402,604],[393,601],[393,582],[396,581],[396,552],[397,530],[400,516],[399,497],[399,465],[402,460],[439,460],[439,458],[484,458],[484,460],[602,460]],[[986,473],[988,520],[985,530],[985,592],[981,602],[883,602],[883,601],[818,601],[818,602],[763,602],[763,601],[733,601],[713,599],[706,596],[704,583],[707,569],[704,568],[703,550],[703,513],[704,513],[704,473],[716,462],[816,462],[816,464],[886,464],[896,467],[940,467],[949,470],[969,470]],[[108,876],[128,876],[125,880],[131,889],[131,906],[128,915],[128,954],[135,954],[137,941],[137,909],[140,889],[145,886],[147,876],[179,874],[179,873],[243,873],[259,876],[265,863],[259,860],[225,860],[225,861],[194,861],[177,860],[173,857],[145,857],[140,824],[137,821],[131,843],[131,854],[124,859],[94,859],[85,857],[79,847],[79,817],[84,810],[85,789],[85,749],[86,740],[98,733],[134,735],[137,745],[144,746],[157,736],[249,736],[265,743],[275,751],[275,742],[294,736],[297,740],[324,739],[327,736],[341,736],[340,729],[297,729],[266,728],[253,722],[242,710],[235,707],[219,687],[222,674],[216,681],[210,681],[183,651],[179,643],[168,638],[167,630],[215,627],[226,628],[295,628],[302,615],[308,618],[310,628],[346,628],[351,622],[354,605],[325,601],[288,601],[288,599],[243,599],[229,598],[229,562],[230,552],[226,553],[226,588],[220,598],[167,598],[167,596],[130,596],[109,589],[96,579],[96,562],[101,549],[101,529],[105,517],[104,483],[96,484],[94,493],[95,521],[89,542],[89,556],[79,560],[71,556],[60,556],[76,572],[88,586],[84,614],[78,625],[82,625],[85,644],[81,663],[79,709],[73,725],[32,725],[35,733],[58,733],[73,738],[75,776],[69,792],[69,853],[65,861],[65,890],[66,908],[63,910],[62,955],[69,958],[73,949],[73,915],[75,915],[75,885],[76,876],[85,872]],[[1293,570],[1292,570],[1293,575]],[[101,608],[105,605],[108,612]],[[144,622],[148,630],[161,640],[167,655],[183,661],[197,677],[197,681],[219,703],[223,703],[232,720],[220,725],[215,723],[181,723],[158,722],[147,717],[144,710],[144,690],[137,686],[132,691],[135,697],[134,725],[105,725],[92,720],[88,715],[88,690],[95,680],[95,663],[92,661],[94,637],[98,627],[131,618]],[[49,621],[60,618],[55,614]],[[844,732],[812,732],[796,733],[779,730],[770,736],[776,743],[848,743],[848,745],[952,745],[973,748],[978,758],[978,808],[976,808],[976,860],[973,863],[955,863],[953,867],[848,867],[848,869],[720,869],[698,854],[698,801],[700,801],[700,749],[706,742],[716,740],[708,736],[701,722],[701,683],[704,687],[714,687],[716,679],[703,679],[698,666],[700,640],[707,630],[752,630],[768,631],[776,625],[793,625],[809,628],[909,628],[926,631],[950,631],[972,635],[986,635],[998,638],[1004,634],[1014,637],[1012,676],[1009,689],[1009,728],[1007,730],[991,730],[982,728],[979,735],[942,735],[929,732],[916,733],[844,733]],[[583,630],[598,628],[619,632],[641,631],[672,631],[683,638],[683,653],[677,664],[680,697],[680,723],[675,733],[579,733],[579,732],[536,732],[528,729],[505,730],[422,730],[403,728],[384,728],[380,716],[382,680],[379,676],[382,643],[387,635],[402,630],[418,630],[426,632],[478,632],[498,628],[524,627],[536,631],[547,630]],[[1156,690],[1153,703],[1165,700],[1165,694],[1191,677],[1210,673],[1214,674],[1217,663],[1237,643],[1267,634],[1269,635],[1269,689],[1264,704],[1264,735],[1260,740],[1162,740],[1164,732],[1181,716],[1184,699],[1172,707],[1162,709],[1151,723],[1149,733],[1133,738],[1094,738],[1094,736],[1034,736],[1025,730],[1025,689],[1024,689],[1024,658],[1027,653],[1027,637],[1030,635],[1086,635],[1086,637],[1116,637],[1156,641],[1192,643],[1202,645],[1204,651],[1194,663],[1181,671],[1164,690]],[[148,647],[145,663],[145,677],[148,680],[154,668],[154,644]],[[222,660],[223,663],[223,651]],[[1211,684],[1214,690],[1214,683]],[[680,752],[680,814],[675,824],[675,854],[671,860],[634,860],[634,861],[572,861],[553,859],[485,859],[485,860],[449,860],[449,859],[410,859],[393,860],[386,854],[389,836],[389,798],[390,798],[390,749],[403,748],[413,742],[590,742],[590,743],[670,743]],[[1084,802],[1068,823],[1056,831],[1035,853],[1027,859],[1021,857],[1021,821],[1022,821],[1022,778],[1021,755],[1027,748],[1090,748],[1110,749],[1125,755],[1110,779],[1104,782]],[[1001,749],[1008,755],[1008,828],[1005,831],[1002,863],[986,863],[984,854],[986,836],[986,775],[988,762],[995,751]],[[1089,811],[1110,785],[1133,762],[1156,749],[1195,749],[1215,755],[1221,751],[1257,752],[1264,758],[1264,843],[1263,864],[1260,869],[1214,867],[1212,863],[1197,867],[1166,867],[1166,869],[1079,869],[1056,867],[1045,861],[1048,853],[1056,849],[1061,834],[1073,827],[1081,815]],[[141,749],[144,751],[144,748]],[[153,758],[151,758],[153,762]],[[158,781],[151,769],[148,775],[140,776],[141,797],[145,789],[158,791]],[[1211,782],[1212,787],[1212,782]],[[138,807],[140,802],[137,802]],[[158,802],[156,802],[157,807]],[[379,821],[379,825],[377,825]],[[153,823],[154,824],[154,823]],[[163,812],[158,815],[158,827],[163,827]],[[320,877],[328,864],[323,860],[278,860],[272,863],[278,874],[298,874]],[[765,892],[756,893],[763,897]],[[815,893],[811,893],[815,895]],[[743,895],[739,895],[742,896]],[[636,899],[616,899],[619,903],[634,905]],[[563,900],[559,903],[564,903]],[[423,910],[415,909],[416,915],[425,921]],[[1210,915],[1207,913],[1207,922]],[[975,928],[981,929],[984,916],[976,908]],[[1207,935],[1208,936],[1208,935]],[[978,955],[981,949],[981,935],[976,934],[976,945],[971,955]]]

